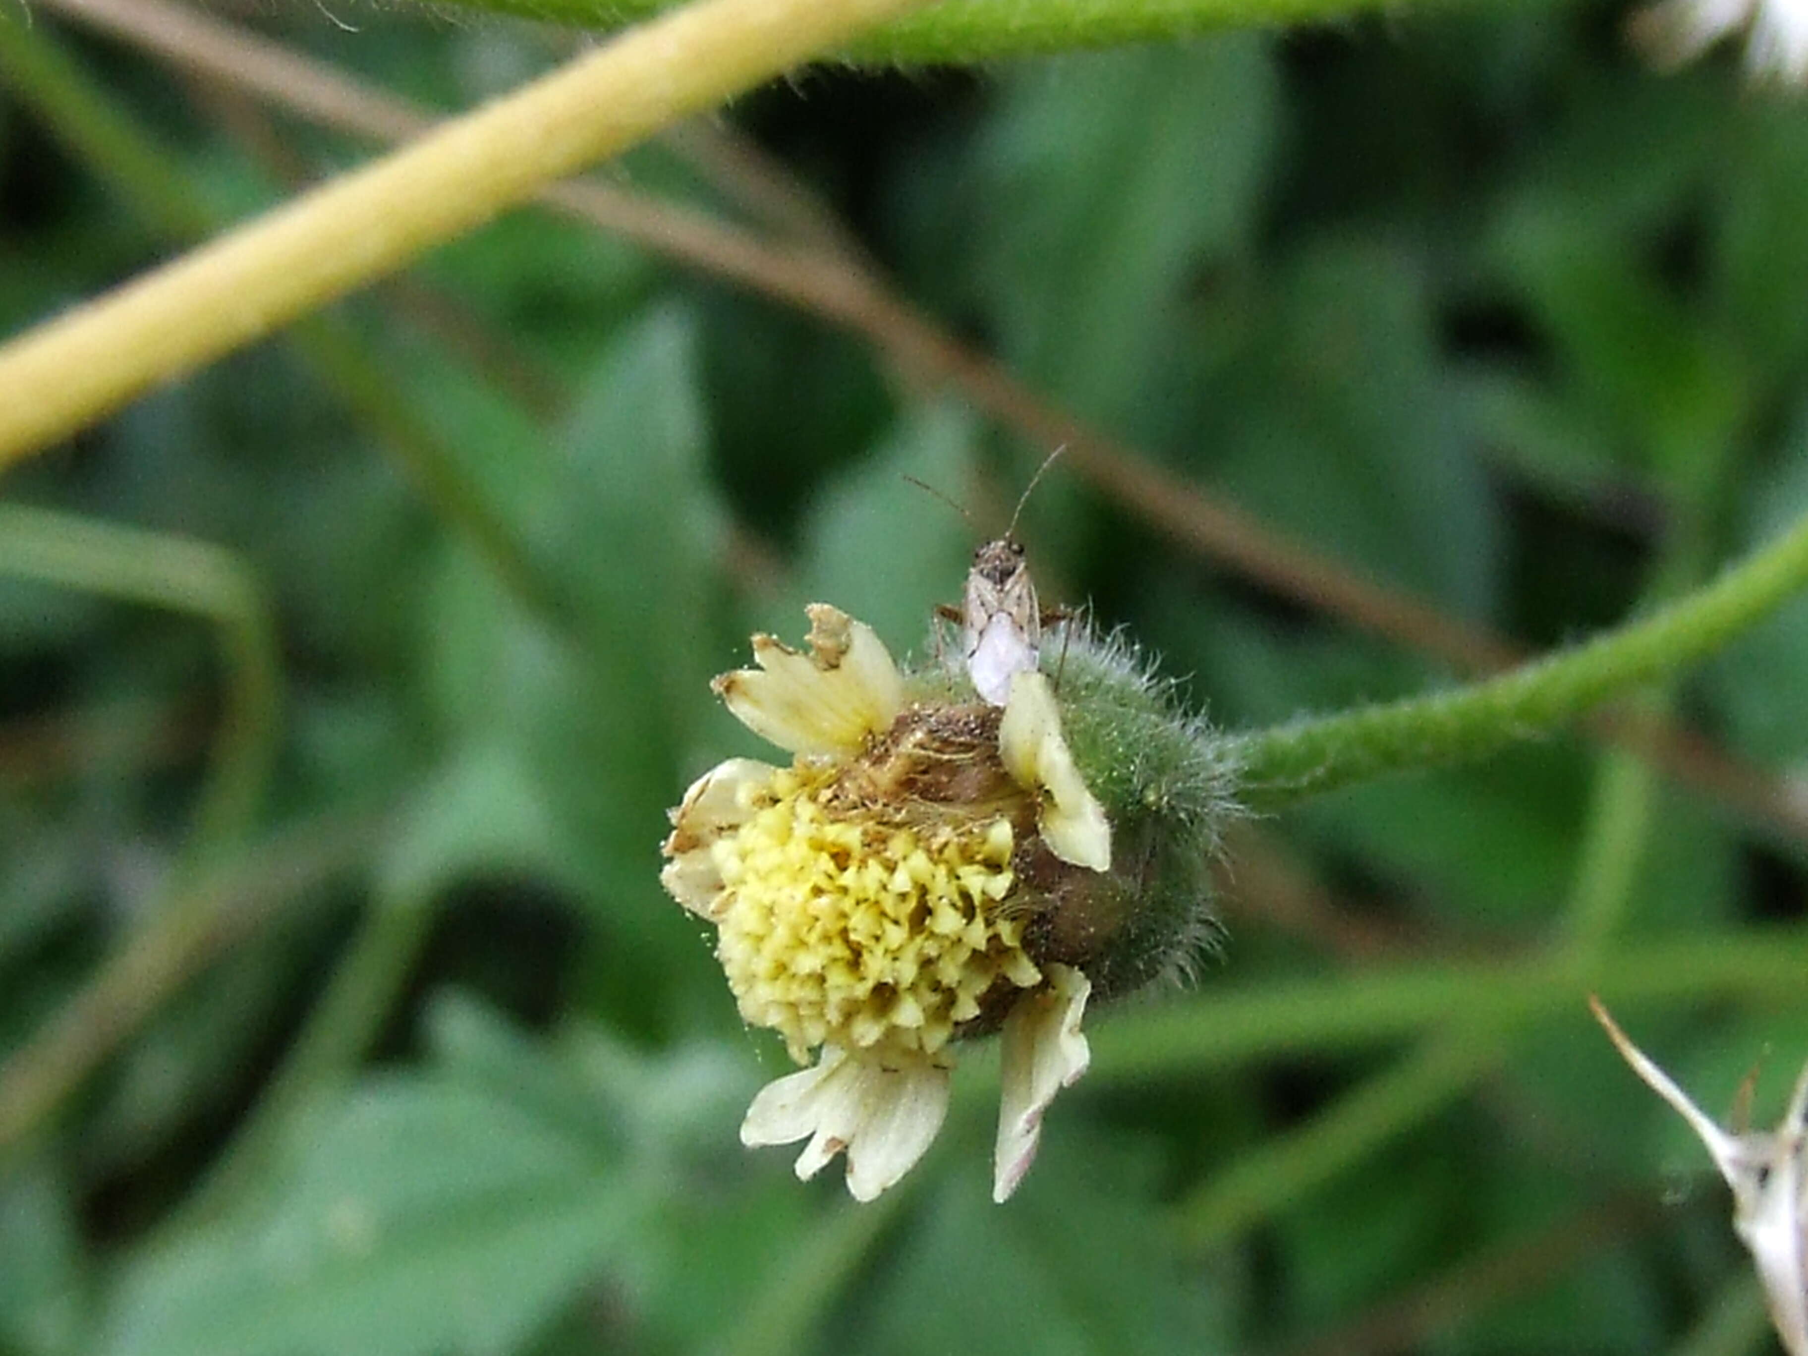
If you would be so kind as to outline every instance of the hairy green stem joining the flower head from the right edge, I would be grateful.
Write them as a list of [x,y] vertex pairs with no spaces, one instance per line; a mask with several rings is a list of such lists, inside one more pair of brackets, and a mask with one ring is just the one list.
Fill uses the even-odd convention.
[[1808,584],[1808,517],[1671,606],[1481,683],[1278,725],[1235,739],[1251,808],[1383,772],[1481,758],[1727,644]]

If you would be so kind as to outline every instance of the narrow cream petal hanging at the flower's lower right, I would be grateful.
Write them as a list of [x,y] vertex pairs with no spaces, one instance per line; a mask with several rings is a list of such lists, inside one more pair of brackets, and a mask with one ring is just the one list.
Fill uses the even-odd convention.
[[1092,982],[1072,965],[1049,965],[1049,987],[1025,994],[1003,1029],[1003,1092],[998,1101],[998,1148],[993,1155],[993,1201],[1016,1191],[1041,1139],[1041,1114],[1054,1094],[1087,1072],[1092,1050],[1079,1032]]

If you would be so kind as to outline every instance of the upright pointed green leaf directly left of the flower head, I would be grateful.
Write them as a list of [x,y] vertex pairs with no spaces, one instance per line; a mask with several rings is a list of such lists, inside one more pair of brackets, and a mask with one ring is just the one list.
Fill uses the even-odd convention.
[[560,633],[463,551],[432,633],[454,729],[506,741],[582,855],[591,899],[635,928],[667,900],[654,846],[709,698],[716,508],[692,336],[673,311],[629,327],[588,383],[557,459],[517,512],[570,602]]

